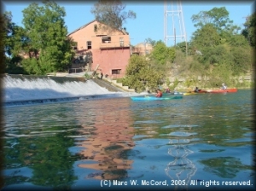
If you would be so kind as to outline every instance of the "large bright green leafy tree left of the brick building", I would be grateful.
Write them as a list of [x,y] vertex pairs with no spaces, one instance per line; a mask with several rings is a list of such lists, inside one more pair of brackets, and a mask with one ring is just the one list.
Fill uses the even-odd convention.
[[[23,67],[32,74],[46,74],[64,70],[74,53],[71,40],[66,37],[66,13],[57,3],[46,1],[43,6],[31,3],[23,10],[23,25],[29,39],[29,52]],[[34,60],[36,59],[36,60]],[[36,65],[36,66],[35,66]],[[33,69],[34,68],[34,69]]]

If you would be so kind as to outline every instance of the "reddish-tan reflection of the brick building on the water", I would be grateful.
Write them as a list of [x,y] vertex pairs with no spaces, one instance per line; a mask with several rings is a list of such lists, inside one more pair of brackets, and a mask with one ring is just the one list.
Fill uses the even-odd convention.
[[[127,100],[127,99],[126,99]],[[86,119],[79,118],[82,123],[81,131],[89,134],[89,138],[80,142],[84,147],[80,152],[86,161],[95,161],[95,163],[80,163],[80,168],[92,168],[96,172],[90,173],[86,178],[96,179],[117,179],[127,178],[126,169],[131,168],[132,160],[128,159],[127,152],[134,147],[132,137],[134,128],[129,127],[131,123],[129,100],[116,105],[110,105],[109,100],[100,100],[92,103],[86,108],[90,108],[90,114],[87,110],[77,110],[79,115]],[[85,104],[85,103],[82,103]],[[100,107],[100,104],[104,107]],[[84,108],[83,105],[81,108]],[[96,109],[95,109],[96,108]],[[113,110],[113,108],[115,108]],[[125,108],[125,109],[124,109]],[[91,125],[88,125],[90,120]],[[93,123],[92,123],[93,122]]]

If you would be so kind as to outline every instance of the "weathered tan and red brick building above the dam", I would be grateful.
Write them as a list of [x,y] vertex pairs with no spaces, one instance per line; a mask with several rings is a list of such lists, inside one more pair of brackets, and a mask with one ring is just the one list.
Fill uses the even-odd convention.
[[131,57],[129,33],[108,28],[96,20],[68,34],[74,41],[74,49],[80,57],[89,61],[90,71],[109,78],[122,78]]

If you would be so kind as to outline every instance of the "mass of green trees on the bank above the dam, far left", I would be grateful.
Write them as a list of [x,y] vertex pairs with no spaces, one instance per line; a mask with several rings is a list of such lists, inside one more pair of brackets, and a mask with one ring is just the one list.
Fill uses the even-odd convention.
[[12,13],[4,13],[6,72],[44,75],[67,69],[74,52],[66,37],[65,15],[57,3],[31,3],[23,10],[22,28],[12,23]]

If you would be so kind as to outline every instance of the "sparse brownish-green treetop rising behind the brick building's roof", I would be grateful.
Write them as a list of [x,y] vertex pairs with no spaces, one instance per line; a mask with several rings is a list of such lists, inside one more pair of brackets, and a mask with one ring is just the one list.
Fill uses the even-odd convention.
[[136,13],[131,10],[125,12],[125,7],[120,0],[99,0],[91,9],[91,13],[100,23],[105,23],[110,28],[121,29],[127,18],[136,18]]

